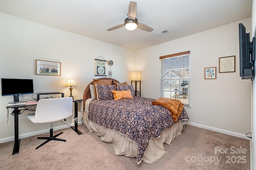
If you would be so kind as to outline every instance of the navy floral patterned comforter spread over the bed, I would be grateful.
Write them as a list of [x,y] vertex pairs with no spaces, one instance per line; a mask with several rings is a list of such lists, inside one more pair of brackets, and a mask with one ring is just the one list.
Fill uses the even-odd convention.
[[[88,108],[88,118],[138,143],[137,163],[140,163],[150,138],[158,138],[163,130],[175,123],[166,108],[152,105],[153,100],[155,99],[143,97],[92,100]],[[179,120],[188,120],[186,110],[183,109]]]

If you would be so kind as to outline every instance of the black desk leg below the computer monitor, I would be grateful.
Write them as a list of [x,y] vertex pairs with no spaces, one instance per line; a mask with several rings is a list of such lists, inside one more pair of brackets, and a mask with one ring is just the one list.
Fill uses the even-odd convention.
[[14,147],[12,155],[18,154],[20,150],[20,139],[19,139],[19,110],[14,108]]

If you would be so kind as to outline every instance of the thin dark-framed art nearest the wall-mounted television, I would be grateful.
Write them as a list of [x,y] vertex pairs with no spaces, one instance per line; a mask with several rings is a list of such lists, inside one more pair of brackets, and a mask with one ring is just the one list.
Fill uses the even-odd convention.
[[236,56],[220,57],[219,58],[219,73],[235,72]]

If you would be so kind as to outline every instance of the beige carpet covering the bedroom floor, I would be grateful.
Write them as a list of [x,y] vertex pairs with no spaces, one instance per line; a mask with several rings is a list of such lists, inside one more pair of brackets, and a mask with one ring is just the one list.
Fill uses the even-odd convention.
[[38,150],[44,140],[37,137],[48,134],[23,138],[16,155],[12,155],[14,141],[0,144],[0,170],[250,170],[249,140],[194,126],[187,125],[182,136],[164,144],[168,153],[152,165],[117,156],[110,144],[84,125],[78,129],[82,135],[71,128],[54,131],[63,131],[58,137],[67,142],[50,141]]

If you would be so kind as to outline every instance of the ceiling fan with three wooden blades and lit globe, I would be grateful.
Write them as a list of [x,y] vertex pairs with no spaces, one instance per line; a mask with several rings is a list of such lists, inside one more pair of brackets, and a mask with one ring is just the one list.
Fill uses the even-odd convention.
[[129,8],[128,8],[128,18],[124,20],[124,24],[109,28],[108,31],[116,30],[118,28],[122,28],[123,26],[125,26],[127,30],[135,30],[136,28],[139,28],[141,30],[148,31],[148,32],[151,32],[154,30],[150,26],[146,26],[145,24],[139,23],[138,19],[136,18],[136,14],[137,14],[137,3],[130,2]]

